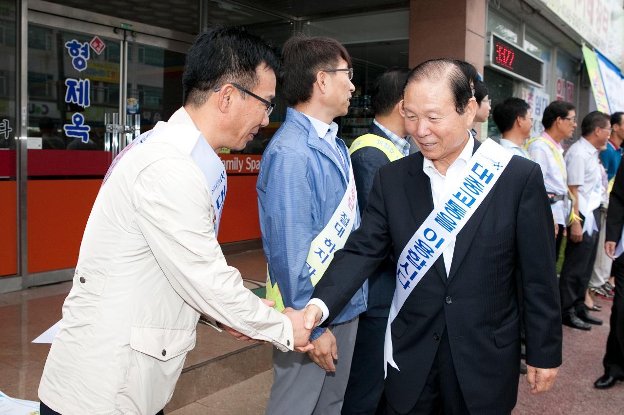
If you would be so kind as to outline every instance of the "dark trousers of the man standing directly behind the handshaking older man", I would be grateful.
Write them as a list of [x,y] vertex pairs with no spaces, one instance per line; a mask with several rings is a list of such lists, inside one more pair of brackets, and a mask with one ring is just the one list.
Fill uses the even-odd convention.
[[359,315],[342,415],[374,415],[384,391],[384,337],[388,317]]

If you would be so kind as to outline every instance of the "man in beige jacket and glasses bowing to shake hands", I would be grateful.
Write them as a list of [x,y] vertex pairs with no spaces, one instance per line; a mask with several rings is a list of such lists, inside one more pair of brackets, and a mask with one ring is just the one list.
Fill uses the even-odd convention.
[[216,237],[227,186],[216,153],[268,123],[278,67],[258,37],[208,29],[187,55],[183,108],[113,161],[39,385],[42,415],[162,413],[200,313],[240,338],[309,350],[301,314],[245,289]]

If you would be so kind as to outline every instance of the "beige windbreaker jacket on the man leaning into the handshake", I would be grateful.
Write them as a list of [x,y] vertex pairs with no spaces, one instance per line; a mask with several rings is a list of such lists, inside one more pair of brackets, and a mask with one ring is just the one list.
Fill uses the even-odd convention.
[[[194,127],[183,108],[169,122]],[[95,199],[39,384],[39,399],[63,415],[156,414],[200,313],[293,348],[290,320],[227,265],[205,176],[167,140],[128,151]]]

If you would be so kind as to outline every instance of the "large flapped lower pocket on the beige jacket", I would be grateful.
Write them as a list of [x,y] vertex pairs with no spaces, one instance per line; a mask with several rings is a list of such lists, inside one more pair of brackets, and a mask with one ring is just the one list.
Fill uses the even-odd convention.
[[155,414],[173,395],[195,328],[133,325],[128,366],[115,407],[124,414]]

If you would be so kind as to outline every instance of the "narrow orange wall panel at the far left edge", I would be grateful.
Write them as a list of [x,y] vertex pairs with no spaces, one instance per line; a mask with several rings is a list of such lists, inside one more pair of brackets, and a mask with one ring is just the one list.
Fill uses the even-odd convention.
[[0,275],[17,274],[16,182],[0,181]]

